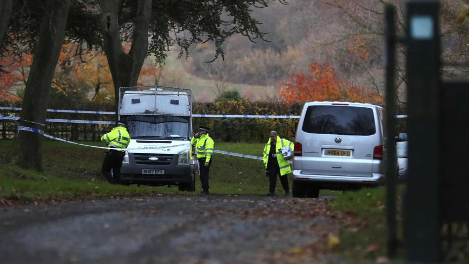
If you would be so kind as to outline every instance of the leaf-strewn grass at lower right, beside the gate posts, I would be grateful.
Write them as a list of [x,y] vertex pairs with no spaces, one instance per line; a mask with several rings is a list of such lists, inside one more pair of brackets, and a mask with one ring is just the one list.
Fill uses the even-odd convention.
[[[398,186],[398,197],[403,189],[403,185]],[[335,247],[336,252],[347,257],[348,263],[375,263],[378,257],[387,256],[385,203],[385,187],[345,192],[333,200],[334,211],[354,212],[357,217],[356,225],[340,229],[340,243]],[[398,198],[398,220],[401,219],[400,209],[401,202]],[[398,226],[400,224],[399,221]],[[401,230],[398,231],[400,232]],[[399,251],[399,258],[392,263],[403,263],[402,254]]]

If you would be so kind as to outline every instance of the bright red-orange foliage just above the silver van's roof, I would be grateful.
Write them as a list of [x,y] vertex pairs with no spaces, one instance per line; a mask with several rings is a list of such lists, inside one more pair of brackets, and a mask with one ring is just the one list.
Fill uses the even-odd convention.
[[327,63],[311,63],[307,74],[295,72],[288,82],[280,84],[279,94],[287,103],[349,101],[380,105],[384,101],[377,91],[340,81]]

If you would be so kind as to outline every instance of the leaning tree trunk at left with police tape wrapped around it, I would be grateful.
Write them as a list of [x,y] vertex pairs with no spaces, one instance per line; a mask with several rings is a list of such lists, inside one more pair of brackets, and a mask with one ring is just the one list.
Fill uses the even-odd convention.
[[[24,92],[21,119],[45,123],[49,91],[65,36],[70,0],[47,0],[44,18]],[[44,130],[44,127],[20,121],[20,125]],[[43,171],[43,136],[19,131],[9,159],[25,169]]]

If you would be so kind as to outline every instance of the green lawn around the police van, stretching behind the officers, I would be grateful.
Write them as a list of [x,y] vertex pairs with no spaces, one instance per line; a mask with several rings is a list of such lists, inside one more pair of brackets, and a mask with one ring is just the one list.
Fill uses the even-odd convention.
[[[0,156],[5,155],[12,141],[0,141]],[[85,144],[100,145],[97,142]],[[215,143],[223,151],[260,156],[263,143]],[[110,185],[100,173],[105,156],[102,149],[77,146],[59,141],[46,141],[43,160],[45,173],[23,170],[13,164],[0,165],[0,197],[19,200],[68,200],[84,197],[154,195],[195,193],[179,192],[176,186],[137,187]],[[196,181],[197,192],[200,181]],[[265,195],[268,191],[262,161],[215,154],[210,169],[210,189],[213,194]],[[290,179],[291,189],[291,179]],[[283,194],[280,182],[277,194]],[[324,191],[322,194],[333,194]]]

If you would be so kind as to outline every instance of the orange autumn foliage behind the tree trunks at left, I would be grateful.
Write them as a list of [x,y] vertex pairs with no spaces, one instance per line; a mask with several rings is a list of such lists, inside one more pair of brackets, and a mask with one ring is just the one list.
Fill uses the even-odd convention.
[[[124,49],[128,45],[124,45]],[[0,59],[4,72],[0,73],[0,100],[21,99],[28,79],[32,55],[21,57],[14,53]],[[138,85],[154,84],[159,68],[146,62],[141,70]],[[80,94],[92,101],[113,101],[114,88],[106,54],[102,50],[87,50],[76,43],[62,45],[55,69],[52,88],[65,95]]]

